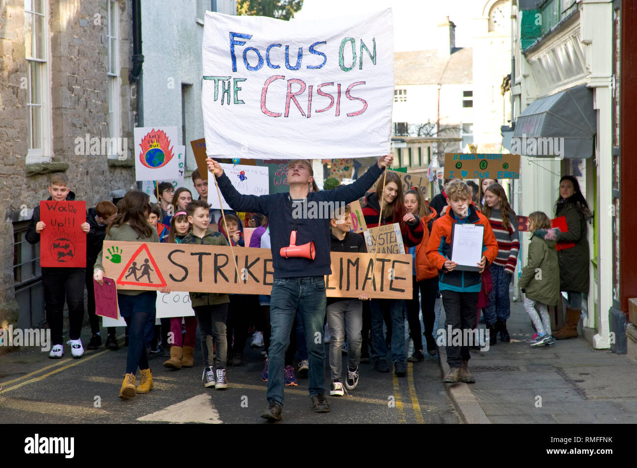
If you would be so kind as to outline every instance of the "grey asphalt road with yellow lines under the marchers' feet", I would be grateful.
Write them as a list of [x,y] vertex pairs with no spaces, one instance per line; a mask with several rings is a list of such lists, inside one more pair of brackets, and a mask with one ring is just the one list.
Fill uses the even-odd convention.
[[[89,336],[86,328],[83,332],[86,346]],[[118,391],[126,350],[124,346],[118,351],[102,346],[75,359],[65,344],[64,358],[59,360],[48,358],[48,353],[38,348],[22,348],[0,356],[0,420],[34,424],[267,423],[259,417],[266,406],[267,385],[261,381],[263,357],[259,350],[248,348],[245,365],[228,368],[226,390],[204,388],[199,348],[195,367],[179,371],[166,369],[166,358],[154,355],[150,359],[154,390],[122,401]],[[361,364],[360,374],[351,396],[328,397],[332,410],[324,414],[311,411],[308,380],[299,378],[298,386],[285,388],[282,423],[459,422],[441,383],[438,357],[427,356],[424,362],[410,363],[404,378],[380,374],[370,364]],[[326,383],[329,385],[327,363]]]

